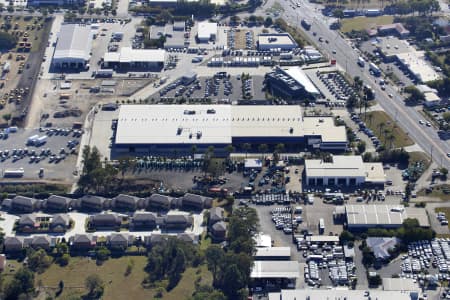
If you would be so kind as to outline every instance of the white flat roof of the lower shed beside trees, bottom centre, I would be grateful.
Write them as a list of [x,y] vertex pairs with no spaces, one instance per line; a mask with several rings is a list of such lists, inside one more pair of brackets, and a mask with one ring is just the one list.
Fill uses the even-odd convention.
[[297,261],[255,261],[251,278],[299,278],[300,265]]

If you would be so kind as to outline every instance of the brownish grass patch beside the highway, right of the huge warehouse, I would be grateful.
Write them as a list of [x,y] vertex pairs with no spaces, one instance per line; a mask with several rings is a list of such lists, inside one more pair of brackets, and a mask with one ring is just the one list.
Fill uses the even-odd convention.
[[[372,116],[372,117],[371,117]],[[364,115],[363,115],[364,118]],[[394,140],[392,141],[392,145],[395,148],[401,148],[406,146],[411,146],[414,142],[411,138],[400,128],[398,127],[394,121],[389,117],[384,111],[373,111],[367,113],[365,118],[367,126],[372,129],[373,133],[378,136],[381,143],[389,146],[391,141],[389,141],[389,135],[394,136]],[[380,124],[384,123],[384,127],[381,128],[380,132]],[[385,142],[385,133],[384,131],[388,130],[389,133],[386,134],[386,138],[388,139]]]

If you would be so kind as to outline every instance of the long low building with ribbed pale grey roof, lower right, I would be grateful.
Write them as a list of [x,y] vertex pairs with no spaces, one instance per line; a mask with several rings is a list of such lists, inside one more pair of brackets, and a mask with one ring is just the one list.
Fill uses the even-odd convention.
[[372,227],[397,228],[408,218],[417,219],[422,227],[429,227],[424,209],[404,207],[403,205],[346,205],[345,218],[348,229]]

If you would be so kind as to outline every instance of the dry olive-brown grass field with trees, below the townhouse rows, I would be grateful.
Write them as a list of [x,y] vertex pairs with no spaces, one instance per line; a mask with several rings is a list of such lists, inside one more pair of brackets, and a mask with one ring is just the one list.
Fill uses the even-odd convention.
[[[134,261],[134,267],[128,276],[125,270],[129,260]],[[64,281],[64,291],[57,299],[81,297],[86,294],[84,279],[90,274],[98,274],[104,284],[105,291],[102,299],[153,299],[156,290],[144,289],[141,286],[146,277],[144,267],[147,263],[145,256],[121,257],[109,259],[101,266],[94,260],[85,257],[72,257],[66,267],[52,264],[44,273],[36,275],[36,282],[41,281],[48,295],[54,292],[60,280]],[[212,276],[206,265],[198,268],[188,268],[178,285],[170,292],[164,292],[164,299],[185,299],[195,290],[195,281],[201,277],[202,284],[211,284]]]

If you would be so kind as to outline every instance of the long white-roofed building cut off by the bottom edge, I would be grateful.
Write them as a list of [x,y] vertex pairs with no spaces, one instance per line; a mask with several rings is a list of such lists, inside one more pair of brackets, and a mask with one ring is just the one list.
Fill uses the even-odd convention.
[[371,289],[348,290],[348,289],[303,289],[303,290],[281,290],[277,293],[269,293],[269,300],[361,300],[361,299],[395,299],[395,300],[418,300],[418,291],[383,291]]

